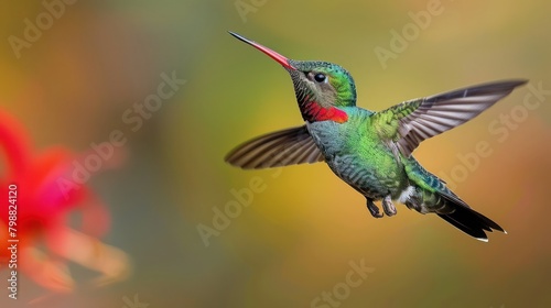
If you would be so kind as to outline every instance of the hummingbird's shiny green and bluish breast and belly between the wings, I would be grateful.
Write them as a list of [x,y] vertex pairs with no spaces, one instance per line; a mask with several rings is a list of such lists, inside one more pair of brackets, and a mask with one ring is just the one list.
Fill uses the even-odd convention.
[[348,121],[307,123],[310,134],[329,168],[345,183],[370,199],[392,199],[409,186],[403,166],[370,129],[370,111],[343,108]]

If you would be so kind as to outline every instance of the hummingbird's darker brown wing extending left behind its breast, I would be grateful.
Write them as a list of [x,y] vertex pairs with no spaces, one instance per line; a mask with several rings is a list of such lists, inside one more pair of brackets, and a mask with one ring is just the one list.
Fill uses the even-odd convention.
[[323,162],[306,125],[264,134],[249,140],[226,155],[225,161],[244,169],[262,169]]

